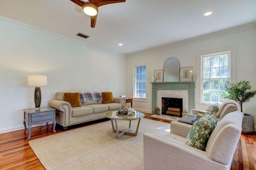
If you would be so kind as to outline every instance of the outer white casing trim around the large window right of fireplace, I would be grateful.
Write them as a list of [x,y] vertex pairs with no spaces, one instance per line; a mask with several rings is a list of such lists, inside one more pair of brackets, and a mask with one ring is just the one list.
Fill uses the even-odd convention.
[[[194,76],[196,76],[196,104],[202,104],[197,105],[197,107],[205,107],[204,104],[209,104],[206,102],[202,102],[202,73],[201,73],[201,56],[202,55],[208,55],[208,54],[214,54],[214,53],[221,53],[224,51],[230,51],[230,82],[235,83],[236,82],[236,51],[237,51],[237,45],[229,46],[229,47],[221,47],[218,49],[211,49],[206,51],[200,51],[196,53],[196,71],[194,73]],[[207,105],[208,106],[208,105]]]

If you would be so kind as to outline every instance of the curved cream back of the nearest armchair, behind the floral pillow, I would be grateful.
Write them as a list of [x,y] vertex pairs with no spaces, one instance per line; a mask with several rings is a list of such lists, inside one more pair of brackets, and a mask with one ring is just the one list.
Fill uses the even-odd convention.
[[209,158],[228,165],[238,144],[242,132],[244,113],[234,111],[226,114],[210,135],[206,146]]

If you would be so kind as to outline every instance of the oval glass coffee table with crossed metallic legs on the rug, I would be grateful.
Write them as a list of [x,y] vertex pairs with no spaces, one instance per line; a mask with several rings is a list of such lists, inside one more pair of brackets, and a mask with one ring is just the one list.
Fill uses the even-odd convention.
[[[137,136],[138,129],[140,126],[140,119],[145,116],[144,113],[141,113],[139,111],[134,111],[134,114],[132,114],[132,115],[117,115],[117,113],[118,113],[118,111],[110,111],[105,114],[106,117],[111,119],[112,129],[114,132],[116,132],[116,137],[120,138],[124,134]],[[131,131],[131,121],[135,120],[135,119],[139,119],[139,120],[138,120],[136,131],[133,132],[133,131]],[[116,128],[114,126],[113,120],[115,120]],[[129,128],[126,130],[122,130],[122,131],[119,130],[117,120],[129,120],[130,121]]]

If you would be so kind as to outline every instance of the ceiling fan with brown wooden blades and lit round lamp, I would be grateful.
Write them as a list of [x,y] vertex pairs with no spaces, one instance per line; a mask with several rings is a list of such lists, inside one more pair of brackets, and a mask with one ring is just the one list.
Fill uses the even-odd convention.
[[88,0],[89,2],[83,2],[81,0],[70,0],[70,1],[81,6],[83,8],[84,13],[91,17],[92,28],[94,28],[96,25],[99,6],[118,3],[118,2],[125,2],[125,0]]

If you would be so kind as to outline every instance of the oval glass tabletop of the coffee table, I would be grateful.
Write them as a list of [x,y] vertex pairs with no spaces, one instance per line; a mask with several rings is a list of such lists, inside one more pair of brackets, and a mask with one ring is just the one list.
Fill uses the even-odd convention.
[[110,119],[122,119],[122,120],[140,119],[145,116],[144,113],[141,113],[139,111],[135,111],[134,115],[116,115],[116,113],[118,113],[118,111],[110,111],[106,113],[105,116]]

